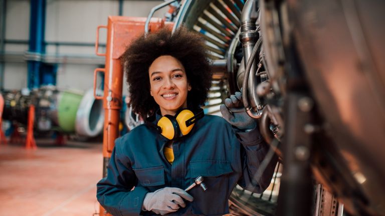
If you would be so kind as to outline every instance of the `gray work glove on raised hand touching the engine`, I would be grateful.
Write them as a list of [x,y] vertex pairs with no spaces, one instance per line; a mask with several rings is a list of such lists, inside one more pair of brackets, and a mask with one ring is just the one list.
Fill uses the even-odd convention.
[[240,129],[253,129],[257,125],[257,121],[246,113],[243,106],[242,93],[239,91],[232,94],[230,98],[225,99],[225,104],[220,106],[223,118],[225,118],[233,126]]

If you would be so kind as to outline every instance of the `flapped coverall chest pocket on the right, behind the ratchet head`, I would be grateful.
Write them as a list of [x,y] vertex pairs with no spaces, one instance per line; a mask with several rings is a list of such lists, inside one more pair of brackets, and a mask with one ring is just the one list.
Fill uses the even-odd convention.
[[193,213],[198,215],[223,215],[229,213],[228,197],[231,193],[230,175],[233,172],[227,160],[190,161],[191,183],[204,177],[207,190],[195,186],[188,192],[194,196]]

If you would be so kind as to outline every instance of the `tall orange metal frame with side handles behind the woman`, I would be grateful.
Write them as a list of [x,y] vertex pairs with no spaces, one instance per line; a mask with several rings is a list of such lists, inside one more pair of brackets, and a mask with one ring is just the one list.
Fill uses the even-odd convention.
[[[122,107],[123,68],[120,56],[130,42],[144,32],[146,17],[109,16],[107,26],[100,25],[97,28],[95,52],[105,56],[105,68],[96,68],[94,71],[94,96],[103,99],[104,130],[103,130],[103,177],[107,175],[106,169],[114,141],[119,136],[119,118]],[[165,22],[161,18],[151,18],[149,31],[154,32],[163,26],[173,26],[173,22]],[[107,28],[106,53],[99,52],[99,30]],[[103,96],[96,95],[97,73],[104,72]],[[99,215],[109,215],[100,206]]]

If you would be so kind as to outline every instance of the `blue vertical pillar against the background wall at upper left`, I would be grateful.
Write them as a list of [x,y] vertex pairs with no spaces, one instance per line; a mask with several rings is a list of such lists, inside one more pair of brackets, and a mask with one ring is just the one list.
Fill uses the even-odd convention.
[[28,61],[28,87],[38,88],[42,84],[56,84],[56,65],[45,64],[39,56],[46,53],[46,0],[31,0],[29,51],[36,60]]

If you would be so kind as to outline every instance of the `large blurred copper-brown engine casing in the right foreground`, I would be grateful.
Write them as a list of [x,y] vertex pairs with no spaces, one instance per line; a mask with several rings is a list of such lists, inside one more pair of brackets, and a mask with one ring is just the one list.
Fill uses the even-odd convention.
[[272,98],[284,100],[279,215],[307,215],[311,173],[349,213],[385,214],[384,8],[376,0],[260,2],[262,62]]

